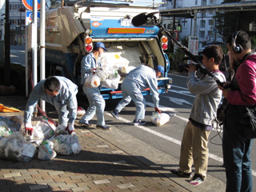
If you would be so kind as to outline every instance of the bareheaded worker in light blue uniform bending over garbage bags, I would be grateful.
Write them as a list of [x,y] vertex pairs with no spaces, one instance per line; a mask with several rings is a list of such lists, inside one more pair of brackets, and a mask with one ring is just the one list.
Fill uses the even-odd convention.
[[31,118],[38,100],[49,102],[58,111],[58,125],[66,127],[71,134],[74,131],[74,120],[77,118],[78,86],[68,78],[52,76],[38,82],[30,93],[24,112],[25,130],[32,134]]

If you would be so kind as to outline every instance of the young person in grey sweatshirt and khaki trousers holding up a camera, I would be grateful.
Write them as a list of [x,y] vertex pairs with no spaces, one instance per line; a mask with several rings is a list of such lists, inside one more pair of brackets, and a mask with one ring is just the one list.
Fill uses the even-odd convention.
[[[221,82],[226,78],[220,70],[223,53],[220,46],[207,46],[202,51],[202,64],[210,70]],[[195,94],[191,109],[189,122],[187,122],[183,138],[178,170],[171,170],[173,174],[180,177],[190,178],[192,176],[192,164],[194,161],[195,173],[190,183],[198,186],[206,180],[208,166],[208,138],[212,130],[212,120],[216,116],[218,104],[222,99],[222,91],[218,89],[217,83],[208,74],[198,79],[196,66],[190,65],[188,70],[187,86],[191,94]]]

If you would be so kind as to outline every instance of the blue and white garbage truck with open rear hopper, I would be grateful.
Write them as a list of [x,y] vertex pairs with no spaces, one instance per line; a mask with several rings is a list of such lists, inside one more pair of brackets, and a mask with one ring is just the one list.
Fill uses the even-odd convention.
[[[168,39],[154,23],[133,26],[131,22],[138,14],[158,12],[157,6],[157,2],[143,6],[130,0],[82,0],[46,10],[46,77],[61,75],[81,88],[81,60],[93,50],[94,42],[103,42],[108,51],[102,55],[102,62],[121,74],[117,89],[100,86],[104,99],[122,98],[123,78],[141,65],[164,67],[158,91],[166,93],[172,83],[167,77],[170,62],[164,52]],[[142,90],[142,94],[150,94],[150,90]]]

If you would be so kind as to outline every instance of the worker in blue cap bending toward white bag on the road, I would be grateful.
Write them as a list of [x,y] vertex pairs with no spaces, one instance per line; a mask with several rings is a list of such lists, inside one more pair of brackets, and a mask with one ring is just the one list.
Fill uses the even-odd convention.
[[133,100],[136,106],[133,124],[135,126],[145,125],[146,122],[143,121],[143,119],[145,118],[146,101],[142,95],[142,90],[147,88],[150,88],[155,111],[161,113],[158,108],[159,92],[157,78],[159,78],[161,74],[164,75],[164,71],[163,66],[157,66],[154,69],[149,66],[138,66],[134,70],[131,70],[122,82],[122,100],[118,102],[118,105],[111,112],[113,117],[119,118],[118,113]]

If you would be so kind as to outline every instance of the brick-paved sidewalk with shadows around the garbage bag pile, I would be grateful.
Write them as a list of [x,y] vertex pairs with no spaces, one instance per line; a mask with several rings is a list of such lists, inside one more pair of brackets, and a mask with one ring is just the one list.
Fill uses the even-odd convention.
[[[0,116],[23,114],[25,96],[0,96],[0,103],[22,110]],[[48,110],[51,117],[54,111]],[[78,117],[79,118],[79,117]],[[54,118],[54,120],[57,120]],[[147,165],[142,156],[132,156],[107,141],[97,131],[75,123],[82,150],[75,155],[57,155],[50,161],[33,158],[30,162],[0,159],[1,192],[18,191],[190,191],[174,182],[170,172],[157,164]],[[111,130],[110,130],[111,131]]]

